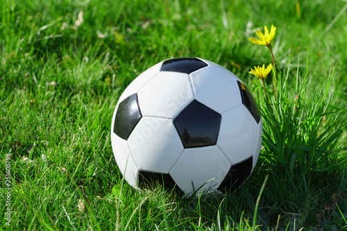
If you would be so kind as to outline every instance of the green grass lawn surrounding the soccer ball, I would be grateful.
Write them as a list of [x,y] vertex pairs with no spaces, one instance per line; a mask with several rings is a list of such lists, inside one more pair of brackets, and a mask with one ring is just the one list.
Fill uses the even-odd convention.
[[[3,230],[347,227],[346,2],[305,1],[300,11],[295,1],[272,0],[0,3],[2,201],[8,153],[12,180]],[[266,79],[268,105],[248,71],[271,55],[248,37],[271,24],[278,86],[275,96],[273,76]],[[155,63],[183,56],[230,69],[262,109],[260,160],[233,194],[139,193],[113,157],[121,92]]]

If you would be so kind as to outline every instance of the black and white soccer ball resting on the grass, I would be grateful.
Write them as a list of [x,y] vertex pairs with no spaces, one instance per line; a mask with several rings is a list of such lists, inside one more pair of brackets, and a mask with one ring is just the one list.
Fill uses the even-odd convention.
[[112,150],[136,189],[154,182],[185,194],[232,192],[251,175],[262,118],[246,85],[201,58],[164,60],[121,94]]

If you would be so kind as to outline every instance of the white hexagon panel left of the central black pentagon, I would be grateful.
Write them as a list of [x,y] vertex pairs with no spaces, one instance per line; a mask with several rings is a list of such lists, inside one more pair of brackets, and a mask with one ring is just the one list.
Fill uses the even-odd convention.
[[139,169],[169,173],[183,152],[183,144],[171,119],[142,117],[128,144]]

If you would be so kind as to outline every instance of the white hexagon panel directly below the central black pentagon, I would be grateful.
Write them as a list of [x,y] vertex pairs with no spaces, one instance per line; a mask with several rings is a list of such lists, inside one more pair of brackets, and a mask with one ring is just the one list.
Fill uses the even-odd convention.
[[180,189],[192,194],[204,184],[198,192],[217,189],[230,166],[230,162],[217,146],[189,148],[183,151],[170,175]]

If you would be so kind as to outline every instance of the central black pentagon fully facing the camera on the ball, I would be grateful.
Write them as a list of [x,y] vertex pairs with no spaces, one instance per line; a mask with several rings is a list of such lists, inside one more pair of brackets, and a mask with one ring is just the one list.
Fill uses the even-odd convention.
[[185,148],[217,144],[221,114],[194,100],[174,119]]

